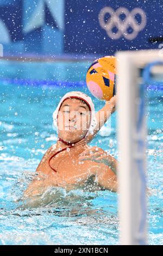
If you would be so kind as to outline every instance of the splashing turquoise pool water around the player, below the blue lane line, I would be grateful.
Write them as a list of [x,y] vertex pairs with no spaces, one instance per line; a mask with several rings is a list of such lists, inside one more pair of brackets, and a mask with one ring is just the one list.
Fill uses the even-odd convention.
[[[71,90],[90,96],[84,82],[20,86],[1,81],[0,245],[118,244],[114,192],[51,188],[43,194],[39,208],[21,208],[23,190],[45,151],[57,140],[52,113],[60,97]],[[148,243],[153,245],[163,241],[161,93],[148,90]],[[94,97],[93,101],[96,111],[104,106]],[[116,113],[90,145],[108,150],[118,159]]]

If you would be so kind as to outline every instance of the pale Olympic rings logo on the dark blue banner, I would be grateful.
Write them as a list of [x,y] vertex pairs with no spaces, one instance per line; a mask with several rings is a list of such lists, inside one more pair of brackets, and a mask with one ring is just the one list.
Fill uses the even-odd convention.
[[[110,17],[106,21],[105,15],[109,14]],[[122,20],[120,15],[124,14],[126,17]],[[135,15],[141,16],[141,22],[138,23],[135,19]],[[104,7],[98,16],[99,24],[111,39],[119,39],[122,35],[128,40],[135,39],[137,34],[145,28],[147,23],[147,17],[145,12],[141,8],[134,8],[129,11],[127,8],[120,7],[116,11],[111,7]],[[112,32],[112,29],[116,27],[117,33]],[[132,33],[128,33],[127,29],[131,27]]]

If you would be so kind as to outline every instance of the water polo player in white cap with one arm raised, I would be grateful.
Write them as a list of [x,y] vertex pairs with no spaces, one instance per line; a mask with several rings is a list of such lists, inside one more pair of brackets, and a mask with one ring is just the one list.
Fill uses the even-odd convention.
[[38,175],[24,196],[33,196],[49,186],[86,185],[90,177],[101,188],[117,190],[117,160],[103,149],[87,145],[115,111],[115,103],[116,96],[95,114],[93,102],[86,94],[70,92],[62,97],[53,113],[57,144],[42,157],[36,169]]

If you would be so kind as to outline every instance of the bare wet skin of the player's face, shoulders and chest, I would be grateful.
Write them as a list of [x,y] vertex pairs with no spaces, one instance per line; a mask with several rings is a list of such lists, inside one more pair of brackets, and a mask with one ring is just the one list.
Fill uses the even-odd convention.
[[117,160],[101,148],[89,147],[88,138],[81,140],[89,129],[90,115],[89,107],[81,100],[67,99],[62,103],[58,115],[58,137],[75,144],[52,158],[51,166],[57,172],[49,166],[49,158],[68,146],[57,141],[46,151],[36,169],[37,178],[29,185],[24,196],[33,196],[39,193],[40,188],[42,191],[48,186],[61,186],[67,190],[81,186],[89,188],[90,182],[98,184],[99,188],[116,191]]

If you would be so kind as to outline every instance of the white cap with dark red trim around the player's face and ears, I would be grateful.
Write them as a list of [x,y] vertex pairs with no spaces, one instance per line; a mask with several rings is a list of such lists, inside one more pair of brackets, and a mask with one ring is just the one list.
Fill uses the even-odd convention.
[[90,111],[91,111],[91,122],[90,122],[90,127],[86,133],[86,135],[84,137],[89,136],[90,134],[93,134],[93,131],[95,130],[95,127],[97,125],[97,119],[96,119],[96,115],[95,115],[95,106],[92,102],[91,97],[87,96],[85,93],[82,92],[70,92],[70,93],[66,93],[60,100],[57,108],[55,109],[55,111],[53,112],[53,129],[57,129],[57,133],[58,133],[58,126],[57,126],[57,115],[60,109],[60,106],[62,104],[62,102],[68,98],[76,98],[76,99],[80,99],[85,101],[85,103],[89,106]]

